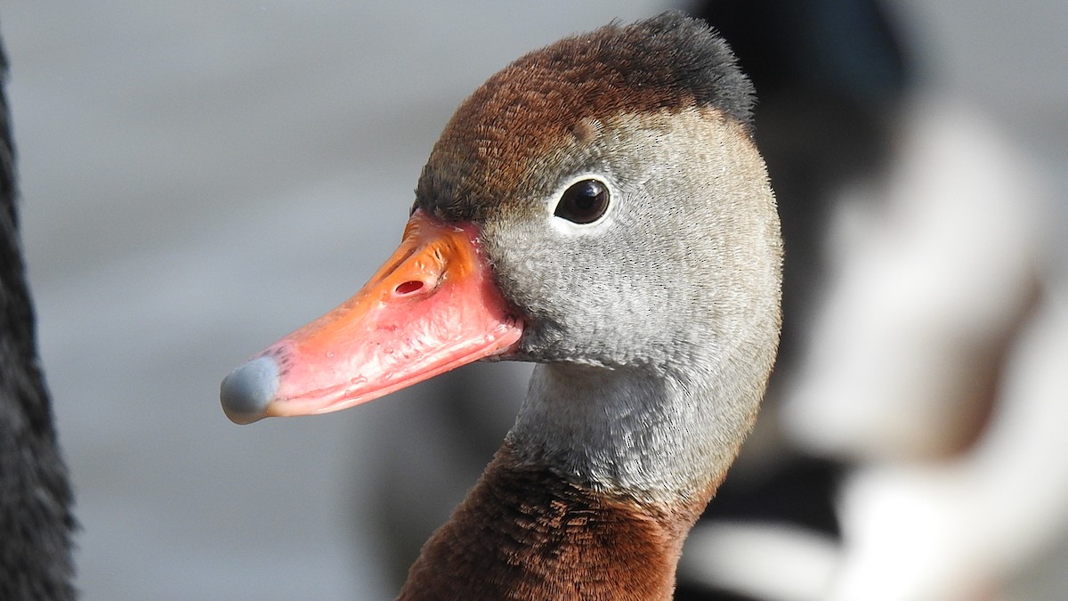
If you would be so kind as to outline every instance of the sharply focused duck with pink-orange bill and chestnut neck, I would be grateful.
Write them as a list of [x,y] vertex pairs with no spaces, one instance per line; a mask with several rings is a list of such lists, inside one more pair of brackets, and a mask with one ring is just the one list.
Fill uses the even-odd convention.
[[533,361],[516,421],[399,599],[670,599],[687,533],[752,429],[782,241],[754,91],[680,12],[492,75],[446,123],[397,250],[234,369],[237,423]]

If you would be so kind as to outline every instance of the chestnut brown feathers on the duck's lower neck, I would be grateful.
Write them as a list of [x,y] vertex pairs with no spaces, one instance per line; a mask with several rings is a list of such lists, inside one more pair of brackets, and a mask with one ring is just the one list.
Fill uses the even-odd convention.
[[399,599],[671,599],[706,503],[612,498],[522,465],[505,445],[423,548]]

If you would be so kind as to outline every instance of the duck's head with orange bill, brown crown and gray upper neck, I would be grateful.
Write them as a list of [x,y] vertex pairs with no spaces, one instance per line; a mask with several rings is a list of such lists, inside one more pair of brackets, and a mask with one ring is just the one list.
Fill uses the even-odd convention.
[[545,364],[509,434],[533,454],[596,447],[561,461],[626,480],[612,464],[633,441],[580,438],[631,435],[621,418],[681,429],[675,441],[697,419],[717,426],[694,452],[729,463],[780,325],[752,105],[725,43],[679,13],[520,58],[445,126],[400,248],[356,296],[234,370],[226,415],[330,412],[520,359]]

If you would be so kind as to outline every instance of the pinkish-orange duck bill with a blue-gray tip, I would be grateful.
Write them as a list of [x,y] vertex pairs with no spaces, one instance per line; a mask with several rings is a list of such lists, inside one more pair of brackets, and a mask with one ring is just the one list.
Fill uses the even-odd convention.
[[515,351],[522,324],[477,233],[415,212],[400,247],[360,292],[226,376],[226,415],[249,423],[337,411]]

